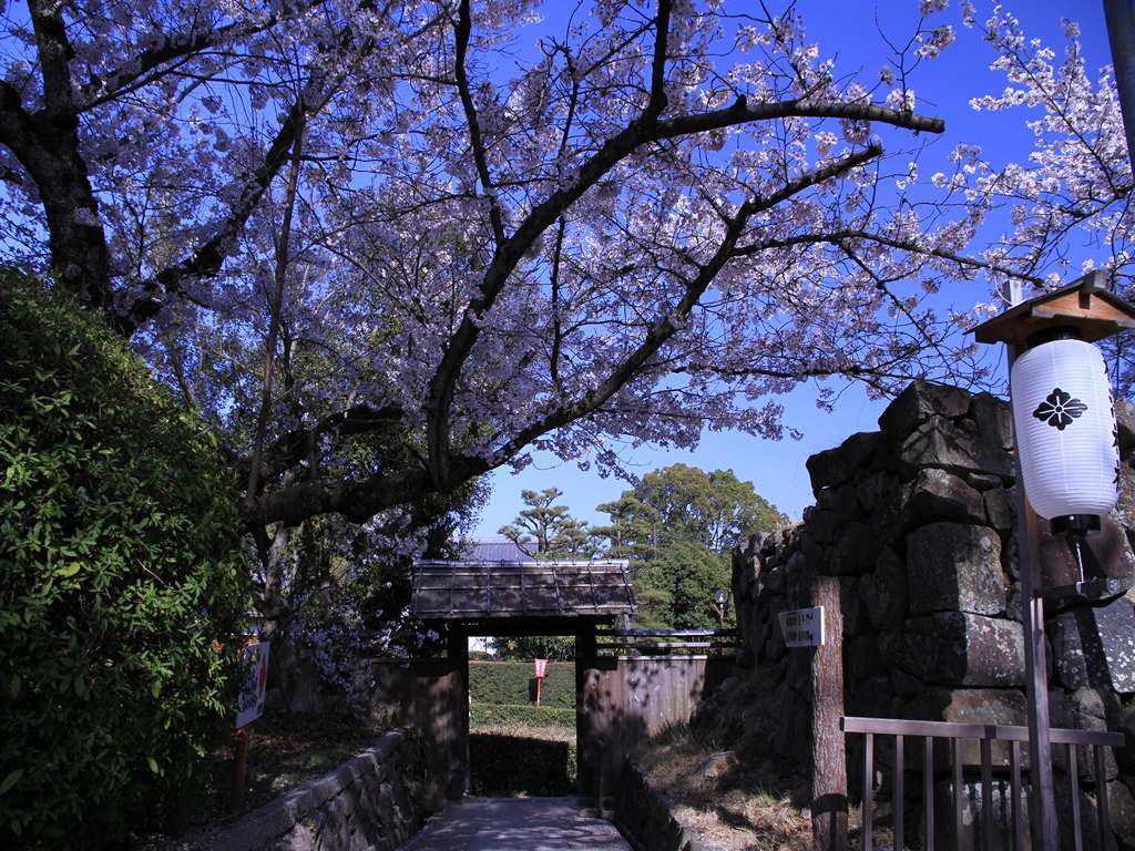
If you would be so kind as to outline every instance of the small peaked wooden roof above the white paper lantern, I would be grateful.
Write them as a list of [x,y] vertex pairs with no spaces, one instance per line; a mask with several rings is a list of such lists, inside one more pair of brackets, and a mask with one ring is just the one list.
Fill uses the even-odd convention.
[[978,343],[1004,343],[1018,351],[1034,334],[1070,326],[1094,343],[1125,328],[1135,328],[1135,305],[1110,292],[1103,272],[1093,271],[1066,287],[1022,302],[974,329]]

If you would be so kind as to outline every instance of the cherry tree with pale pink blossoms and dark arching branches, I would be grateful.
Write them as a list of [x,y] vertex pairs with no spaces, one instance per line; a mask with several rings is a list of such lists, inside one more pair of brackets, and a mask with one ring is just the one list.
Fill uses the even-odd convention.
[[[858,79],[791,5],[596,0],[539,30],[528,0],[28,0],[3,20],[3,250],[216,427],[262,553],[327,513],[410,526],[533,449],[607,472],[614,437],[777,437],[801,381],[978,378],[942,281],[1043,283],[1068,227],[1123,230],[1110,82],[1078,153],[1075,62],[1014,84],[1077,103],[1045,157],[961,149],[926,202],[943,124],[914,83],[944,6]],[[1051,69],[994,17],[1010,77]],[[1027,213],[966,253],[1006,199],[1056,216],[1061,192],[1065,231]]]

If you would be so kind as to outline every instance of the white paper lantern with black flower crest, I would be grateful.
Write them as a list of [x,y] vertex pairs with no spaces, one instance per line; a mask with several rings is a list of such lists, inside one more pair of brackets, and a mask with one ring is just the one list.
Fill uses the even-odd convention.
[[1119,445],[1100,351],[1078,339],[1044,343],[1017,359],[1009,380],[1025,492],[1036,513],[1052,520],[1111,511]]

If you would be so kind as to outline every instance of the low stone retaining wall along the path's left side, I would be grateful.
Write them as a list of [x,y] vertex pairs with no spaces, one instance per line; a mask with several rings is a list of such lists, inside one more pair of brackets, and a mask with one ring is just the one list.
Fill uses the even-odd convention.
[[393,731],[330,774],[234,824],[173,846],[179,851],[394,851],[421,826],[428,760]]

